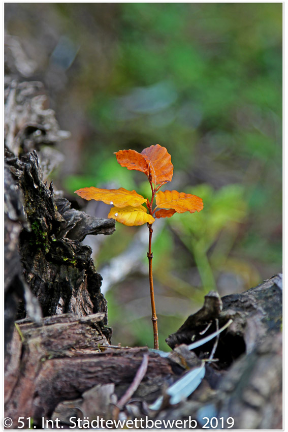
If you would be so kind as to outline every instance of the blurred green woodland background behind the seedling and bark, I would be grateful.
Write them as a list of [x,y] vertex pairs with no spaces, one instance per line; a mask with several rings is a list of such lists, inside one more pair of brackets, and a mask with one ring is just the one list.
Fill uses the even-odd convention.
[[[52,177],[75,205],[107,216],[72,195],[86,186],[149,193],[113,152],[156,143],[174,164],[163,189],[203,198],[200,213],[154,224],[160,348],[209,290],[281,271],[282,4],[10,3],[5,23],[30,62],[14,74],[43,81],[72,132]],[[151,347],[147,227],[90,237],[113,343]]]

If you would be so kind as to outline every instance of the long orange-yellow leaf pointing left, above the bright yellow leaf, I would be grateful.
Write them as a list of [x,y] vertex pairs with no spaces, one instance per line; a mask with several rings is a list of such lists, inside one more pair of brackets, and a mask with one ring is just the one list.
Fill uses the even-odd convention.
[[75,191],[75,194],[79,195],[86,200],[103,201],[105,204],[116,205],[117,207],[126,207],[131,205],[137,207],[146,201],[142,195],[137,194],[136,191],[127,191],[124,188],[120,189],[99,189],[94,188],[83,188]]

